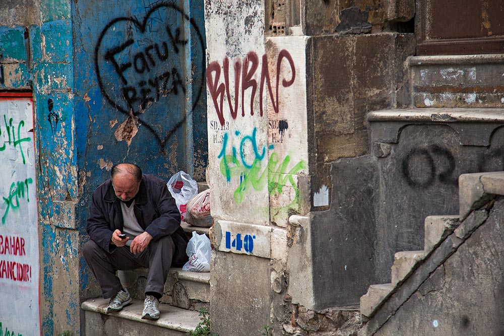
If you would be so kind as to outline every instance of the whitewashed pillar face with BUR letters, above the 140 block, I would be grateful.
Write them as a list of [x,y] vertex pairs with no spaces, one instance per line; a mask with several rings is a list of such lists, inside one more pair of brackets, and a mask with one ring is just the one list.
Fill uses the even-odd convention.
[[206,3],[212,216],[258,224],[269,219],[267,180],[261,181],[262,170],[249,173],[268,156],[266,101],[260,99],[263,23],[261,2]]

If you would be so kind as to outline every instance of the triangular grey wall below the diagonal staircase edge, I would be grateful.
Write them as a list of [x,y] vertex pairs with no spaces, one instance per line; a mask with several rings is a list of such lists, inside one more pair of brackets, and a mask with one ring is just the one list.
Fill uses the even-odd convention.
[[486,222],[374,334],[501,334],[503,210],[500,198]]

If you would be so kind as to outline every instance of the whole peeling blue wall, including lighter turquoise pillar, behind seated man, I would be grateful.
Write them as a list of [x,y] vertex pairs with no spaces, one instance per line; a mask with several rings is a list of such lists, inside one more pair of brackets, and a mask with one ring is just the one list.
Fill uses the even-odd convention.
[[80,247],[111,165],[204,180],[203,0],[30,3],[27,26],[0,22],[0,90],[33,94],[41,334],[78,335],[99,293]]

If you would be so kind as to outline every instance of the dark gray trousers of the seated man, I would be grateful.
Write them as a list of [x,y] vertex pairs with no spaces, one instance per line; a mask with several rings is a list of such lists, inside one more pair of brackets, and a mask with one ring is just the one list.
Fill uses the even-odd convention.
[[171,236],[164,236],[156,241],[152,240],[143,252],[137,254],[130,252],[129,246],[117,247],[112,253],[108,253],[89,240],[84,244],[82,252],[100,284],[103,298],[112,298],[122,289],[116,275],[117,270],[130,271],[140,267],[149,267],[145,292],[163,295],[175,244]]

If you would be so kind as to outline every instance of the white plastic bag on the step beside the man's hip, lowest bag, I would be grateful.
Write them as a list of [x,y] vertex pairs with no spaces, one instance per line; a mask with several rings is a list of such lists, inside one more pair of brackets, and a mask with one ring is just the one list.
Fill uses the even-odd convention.
[[210,239],[207,235],[193,231],[193,237],[185,249],[189,261],[182,266],[182,271],[210,272],[210,250]]

